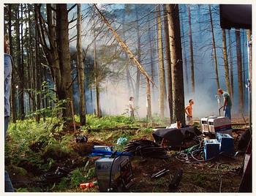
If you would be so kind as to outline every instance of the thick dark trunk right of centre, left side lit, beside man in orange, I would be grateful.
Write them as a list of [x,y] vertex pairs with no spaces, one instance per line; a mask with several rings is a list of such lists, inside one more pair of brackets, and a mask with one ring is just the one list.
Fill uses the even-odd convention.
[[184,80],[181,51],[181,30],[179,21],[178,4],[168,4],[167,16],[170,34],[170,57],[173,84],[173,119],[179,119],[185,124],[184,115]]

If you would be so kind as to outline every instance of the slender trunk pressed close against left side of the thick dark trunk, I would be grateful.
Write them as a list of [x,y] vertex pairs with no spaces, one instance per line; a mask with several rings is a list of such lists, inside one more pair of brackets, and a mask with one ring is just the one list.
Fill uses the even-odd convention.
[[169,39],[169,27],[168,27],[168,18],[166,12],[166,4],[164,5],[165,10],[165,56],[167,61],[167,89],[168,89],[168,105],[170,112],[170,122],[173,121],[173,89],[172,89],[172,74],[171,74],[171,61],[170,61],[170,39]]

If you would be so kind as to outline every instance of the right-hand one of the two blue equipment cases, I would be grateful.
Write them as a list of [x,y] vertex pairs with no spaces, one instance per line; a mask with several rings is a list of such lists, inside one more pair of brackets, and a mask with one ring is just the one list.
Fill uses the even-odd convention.
[[225,154],[234,153],[234,138],[225,133],[217,133],[217,140],[219,141],[219,151]]

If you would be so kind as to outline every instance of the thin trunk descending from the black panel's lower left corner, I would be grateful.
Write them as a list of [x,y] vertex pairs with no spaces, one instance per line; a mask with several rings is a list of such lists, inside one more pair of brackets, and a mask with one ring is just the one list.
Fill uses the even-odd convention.
[[225,29],[222,29],[222,52],[223,52],[223,58],[224,58],[226,88],[227,88],[228,94],[230,94],[231,93],[230,75],[229,75],[229,68],[228,68],[228,61],[227,61],[227,45],[226,45]]

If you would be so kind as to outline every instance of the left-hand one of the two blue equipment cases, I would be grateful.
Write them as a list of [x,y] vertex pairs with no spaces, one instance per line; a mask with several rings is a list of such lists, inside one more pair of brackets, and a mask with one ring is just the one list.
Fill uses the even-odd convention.
[[205,159],[213,159],[219,157],[219,142],[216,139],[204,140],[203,151]]

